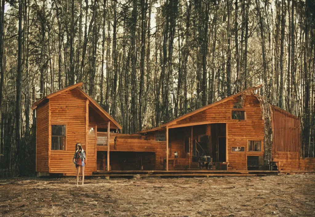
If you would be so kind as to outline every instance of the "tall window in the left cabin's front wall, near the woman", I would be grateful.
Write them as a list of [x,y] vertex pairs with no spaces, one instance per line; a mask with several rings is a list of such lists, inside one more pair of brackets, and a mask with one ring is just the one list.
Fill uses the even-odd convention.
[[51,150],[65,150],[66,125],[51,125]]

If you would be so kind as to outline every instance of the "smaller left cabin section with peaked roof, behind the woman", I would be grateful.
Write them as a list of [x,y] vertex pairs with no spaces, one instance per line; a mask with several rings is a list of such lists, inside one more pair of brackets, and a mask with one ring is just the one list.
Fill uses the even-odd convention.
[[122,129],[81,90],[82,85],[78,83],[49,94],[32,106],[37,115],[36,171],[39,174],[75,175],[72,159],[76,143],[81,143],[87,155],[85,174],[92,175],[97,169],[97,131],[108,135]]

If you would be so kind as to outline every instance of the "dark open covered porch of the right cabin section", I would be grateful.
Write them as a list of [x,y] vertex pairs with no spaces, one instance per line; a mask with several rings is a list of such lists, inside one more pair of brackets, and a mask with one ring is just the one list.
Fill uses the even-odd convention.
[[147,131],[148,140],[165,142],[163,169],[227,170],[226,123],[170,125]]

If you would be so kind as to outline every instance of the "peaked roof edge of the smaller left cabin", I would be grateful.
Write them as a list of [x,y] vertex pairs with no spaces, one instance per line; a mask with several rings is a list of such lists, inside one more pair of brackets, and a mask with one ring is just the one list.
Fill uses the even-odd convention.
[[37,102],[35,102],[35,103],[32,105],[31,108],[34,110],[34,109],[36,109],[37,106],[39,106],[40,104],[46,103],[46,101],[45,101],[46,99],[50,99],[50,98],[55,97],[55,96],[57,96],[57,95],[59,95],[59,94],[61,94],[61,93],[66,92],[66,91],[71,91],[71,90],[73,90],[73,89],[76,89],[76,90],[78,90],[80,93],[82,93],[84,97],[86,97],[86,98],[89,100],[89,102],[92,104],[93,108],[95,109],[95,111],[96,111],[98,114],[100,114],[103,118],[106,118],[106,119],[112,121],[112,123],[113,123],[115,126],[117,126],[117,128],[122,129],[122,127],[117,123],[116,120],[114,120],[114,119],[112,118],[111,115],[109,115],[98,103],[96,103],[88,94],[86,94],[86,93],[80,88],[82,85],[83,85],[83,82],[80,82],[80,83],[77,83],[77,84],[74,84],[74,85],[70,85],[70,86],[68,86],[68,87],[66,87],[66,88],[64,88],[64,89],[61,89],[61,90],[57,91],[57,92],[51,93],[51,94],[47,95],[46,97],[44,97],[44,98],[38,100]]

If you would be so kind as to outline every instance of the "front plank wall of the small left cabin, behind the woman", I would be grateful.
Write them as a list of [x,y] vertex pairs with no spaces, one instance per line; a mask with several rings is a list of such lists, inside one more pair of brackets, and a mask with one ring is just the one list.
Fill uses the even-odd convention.
[[[81,143],[87,154],[87,166],[85,175],[92,175],[92,155],[89,148],[86,149],[86,119],[87,109],[86,97],[78,91],[65,91],[49,99],[50,104],[50,125],[66,125],[66,150],[51,150],[49,173],[63,173],[65,175],[76,175],[77,170],[72,161],[76,143]],[[51,127],[51,126],[50,126]],[[49,141],[51,146],[51,138]],[[49,150],[51,147],[49,147]],[[91,158],[89,160],[89,158]]]

